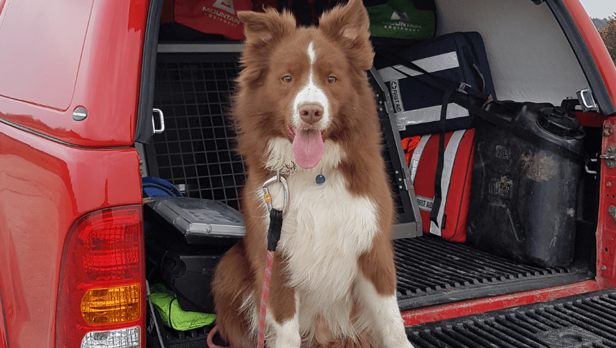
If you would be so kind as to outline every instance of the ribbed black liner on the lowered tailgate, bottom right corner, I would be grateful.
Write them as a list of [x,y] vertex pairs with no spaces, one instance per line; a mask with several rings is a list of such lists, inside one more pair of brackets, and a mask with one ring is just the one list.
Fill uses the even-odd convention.
[[616,347],[616,292],[603,290],[407,328],[416,348]]

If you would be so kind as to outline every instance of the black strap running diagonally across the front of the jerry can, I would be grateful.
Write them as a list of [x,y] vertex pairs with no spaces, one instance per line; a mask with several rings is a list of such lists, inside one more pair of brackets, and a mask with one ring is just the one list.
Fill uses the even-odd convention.
[[554,143],[549,139],[542,138],[533,132],[528,132],[526,129],[522,129],[521,127],[511,127],[512,122],[509,120],[505,120],[504,118],[499,117],[498,115],[486,111],[478,106],[472,106],[469,109],[473,115],[482,118],[483,120],[492,123],[492,125],[496,125],[497,127],[506,127],[516,136],[519,136],[521,139],[524,139],[530,143],[537,145],[537,148],[541,148],[543,150],[548,150],[550,152],[555,153],[556,155],[560,155],[569,159],[574,163],[584,163],[584,158],[582,155],[579,155],[568,148],[559,145],[558,143]]

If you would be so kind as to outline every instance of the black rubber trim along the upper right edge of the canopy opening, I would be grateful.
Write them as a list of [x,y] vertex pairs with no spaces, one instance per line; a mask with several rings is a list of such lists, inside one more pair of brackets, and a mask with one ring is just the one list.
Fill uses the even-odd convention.
[[569,14],[569,10],[562,3],[562,0],[545,0],[545,2],[548,4],[554,17],[556,17],[560,28],[562,28],[565,37],[569,41],[569,45],[571,45],[576,58],[578,58],[578,62],[582,67],[588,84],[590,84],[590,90],[592,90],[592,95],[595,102],[599,105],[601,113],[603,116],[616,113],[616,107],[610,98],[606,84],[603,82],[603,77],[601,77],[597,64],[594,63],[592,54],[590,54],[582,34]]

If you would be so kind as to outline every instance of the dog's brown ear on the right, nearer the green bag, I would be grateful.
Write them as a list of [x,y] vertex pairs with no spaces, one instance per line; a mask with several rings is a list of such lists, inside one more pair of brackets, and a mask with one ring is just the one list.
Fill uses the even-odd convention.
[[346,6],[337,6],[323,14],[319,26],[325,35],[341,43],[357,68],[370,69],[374,52],[370,42],[370,19],[362,0],[349,0]]

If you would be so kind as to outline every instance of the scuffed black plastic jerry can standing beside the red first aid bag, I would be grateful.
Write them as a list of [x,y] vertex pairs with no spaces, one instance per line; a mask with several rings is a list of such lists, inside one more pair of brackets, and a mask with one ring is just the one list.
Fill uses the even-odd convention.
[[[495,101],[476,122],[467,241],[541,267],[574,258],[584,132],[573,111]],[[492,118],[492,120],[489,120]]]

